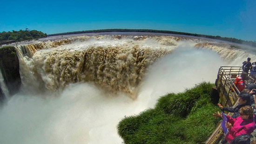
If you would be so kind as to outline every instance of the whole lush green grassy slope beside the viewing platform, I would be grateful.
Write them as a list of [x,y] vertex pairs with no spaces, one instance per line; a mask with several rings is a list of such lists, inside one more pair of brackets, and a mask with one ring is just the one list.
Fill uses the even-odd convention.
[[215,130],[219,108],[210,103],[213,84],[203,82],[182,93],[158,99],[154,109],[118,124],[125,144],[201,144]]

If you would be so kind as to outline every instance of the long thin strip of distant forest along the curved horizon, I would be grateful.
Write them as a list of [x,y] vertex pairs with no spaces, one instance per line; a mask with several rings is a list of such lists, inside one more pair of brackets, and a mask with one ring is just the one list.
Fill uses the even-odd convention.
[[182,34],[182,35],[190,35],[196,37],[203,37],[209,39],[219,39],[224,41],[230,41],[238,44],[254,46],[256,47],[256,41],[247,41],[242,39],[235,38],[227,38],[221,36],[212,36],[212,35],[204,35],[197,33],[183,33],[183,32],[175,32],[175,31],[162,31],[162,30],[150,30],[150,29],[102,29],[102,30],[90,30],[90,31],[78,31],[78,32],[67,32],[67,33],[56,33],[56,34],[48,34],[48,36],[57,36],[57,35],[65,35],[65,34],[78,34],[78,33],[102,33],[102,32],[147,32],[147,33],[171,33],[171,34]]

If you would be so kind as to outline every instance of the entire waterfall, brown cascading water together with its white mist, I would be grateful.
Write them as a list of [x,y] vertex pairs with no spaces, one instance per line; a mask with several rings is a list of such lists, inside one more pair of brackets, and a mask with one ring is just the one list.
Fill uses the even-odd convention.
[[[83,36],[17,46],[27,91],[0,110],[0,143],[121,144],[121,118],[153,107],[168,92],[214,82],[221,65],[239,65],[248,55],[256,59],[228,45],[213,49],[202,46],[205,41],[182,39]],[[229,56],[233,51],[235,58]]]

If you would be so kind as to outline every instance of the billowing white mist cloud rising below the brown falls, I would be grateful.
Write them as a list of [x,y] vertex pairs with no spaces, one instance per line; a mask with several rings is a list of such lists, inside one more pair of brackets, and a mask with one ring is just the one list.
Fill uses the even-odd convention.
[[116,125],[124,116],[154,107],[165,93],[214,82],[220,56],[189,46],[180,44],[152,65],[136,100],[110,96],[86,83],[68,85],[59,97],[13,96],[0,110],[0,143],[121,144]]

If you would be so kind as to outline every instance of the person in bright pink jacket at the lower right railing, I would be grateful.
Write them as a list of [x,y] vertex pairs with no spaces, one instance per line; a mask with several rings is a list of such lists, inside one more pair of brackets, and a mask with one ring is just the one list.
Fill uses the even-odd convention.
[[[255,122],[253,116],[253,110],[251,106],[243,106],[239,109],[240,116],[237,118],[228,118],[226,122],[226,127],[229,129],[229,133],[226,135],[225,139],[230,143],[235,137],[243,134],[251,134],[254,130]],[[216,112],[213,116],[221,118],[221,114]]]

